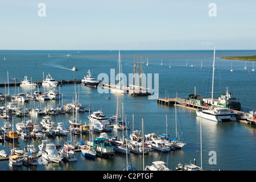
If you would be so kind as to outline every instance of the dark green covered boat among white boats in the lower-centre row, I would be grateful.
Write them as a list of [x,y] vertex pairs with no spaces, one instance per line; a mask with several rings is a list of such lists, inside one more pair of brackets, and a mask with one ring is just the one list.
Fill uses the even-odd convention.
[[98,156],[104,158],[114,156],[114,146],[110,144],[108,138],[96,138],[93,140],[93,148]]

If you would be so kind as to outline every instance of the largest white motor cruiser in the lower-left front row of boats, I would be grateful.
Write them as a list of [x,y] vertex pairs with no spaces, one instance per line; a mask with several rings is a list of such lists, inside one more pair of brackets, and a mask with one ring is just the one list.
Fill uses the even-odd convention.
[[63,156],[59,155],[54,143],[46,143],[46,149],[42,151],[42,157],[54,163],[60,163],[63,159]]

